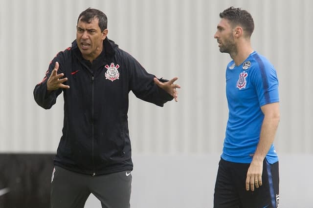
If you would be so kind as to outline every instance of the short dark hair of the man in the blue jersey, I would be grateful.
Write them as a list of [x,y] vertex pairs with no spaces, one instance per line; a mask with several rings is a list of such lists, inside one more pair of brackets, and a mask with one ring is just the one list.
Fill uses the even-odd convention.
[[240,25],[250,37],[254,30],[254,22],[251,14],[241,8],[234,8],[233,6],[225,9],[220,13],[220,18],[228,20],[232,27]]

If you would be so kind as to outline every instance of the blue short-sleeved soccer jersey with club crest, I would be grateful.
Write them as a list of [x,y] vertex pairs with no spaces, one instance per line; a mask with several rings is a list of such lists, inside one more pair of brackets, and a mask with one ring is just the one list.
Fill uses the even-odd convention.
[[[264,114],[261,106],[279,102],[278,79],[273,65],[253,52],[239,66],[226,68],[226,97],[229,109],[221,157],[235,163],[251,163],[259,143]],[[278,161],[272,145],[266,159]]]

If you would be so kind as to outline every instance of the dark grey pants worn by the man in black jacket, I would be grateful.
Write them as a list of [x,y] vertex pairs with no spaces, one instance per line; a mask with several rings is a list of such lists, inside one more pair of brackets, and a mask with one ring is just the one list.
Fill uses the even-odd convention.
[[130,208],[131,171],[91,176],[54,168],[50,208],[84,208],[90,193],[100,200],[102,208]]

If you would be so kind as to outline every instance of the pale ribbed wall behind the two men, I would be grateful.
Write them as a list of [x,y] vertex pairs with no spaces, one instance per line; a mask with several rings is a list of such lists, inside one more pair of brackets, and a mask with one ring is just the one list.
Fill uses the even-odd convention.
[[[251,13],[252,47],[277,70],[280,205],[312,206],[311,0],[1,0],[0,152],[56,152],[63,96],[45,110],[35,103],[33,89],[53,57],[75,39],[78,15],[97,8],[108,16],[109,39],[148,72],[177,76],[181,85],[179,102],[163,108],[130,93],[131,206],[212,207],[228,114],[225,67],[231,60],[213,36],[219,13],[229,6]],[[86,208],[98,207],[90,196]]]

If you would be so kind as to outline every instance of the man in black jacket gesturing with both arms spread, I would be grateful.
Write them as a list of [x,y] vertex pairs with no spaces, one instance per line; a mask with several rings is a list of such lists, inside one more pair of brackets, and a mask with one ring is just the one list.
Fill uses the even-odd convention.
[[50,62],[34,89],[45,109],[64,96],[64,127],[51,178],[51,208],[83,208],[90,193],[103,208],[129,208],[133,163],[127,112],[129,92],[163,106],[180,88],[156,79],[107,38],[107,17],[83,11],[76,40]]

